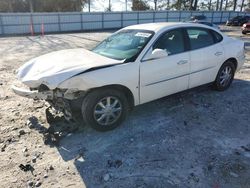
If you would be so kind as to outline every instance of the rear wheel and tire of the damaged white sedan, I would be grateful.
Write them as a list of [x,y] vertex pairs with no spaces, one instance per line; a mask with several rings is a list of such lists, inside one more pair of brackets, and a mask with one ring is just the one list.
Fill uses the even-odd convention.
[[214,81],[214,87],[217,91],[225,91],[229,88],[234,79],[235,69],[236,68],[231,61],[226,61],[221,66]]

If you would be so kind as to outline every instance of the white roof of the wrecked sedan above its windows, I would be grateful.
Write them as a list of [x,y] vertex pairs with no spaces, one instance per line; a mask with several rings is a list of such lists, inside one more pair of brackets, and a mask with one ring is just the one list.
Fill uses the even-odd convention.
[[158,22],[158,23],[147,23],[147,24],[138,24],[138,25],[131,25],[128,27],[125,27],[124,29],[138,29],[138,30],[149,30],[158,32],[162,29],[167,28],[176,28],[176,27],[204,27],[209,28],[209,26],[201,25],[197,23],[189,23],[189,22]]

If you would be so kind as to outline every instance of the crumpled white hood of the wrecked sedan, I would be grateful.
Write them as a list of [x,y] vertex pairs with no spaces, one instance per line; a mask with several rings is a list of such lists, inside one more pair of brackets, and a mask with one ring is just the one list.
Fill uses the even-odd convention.
[[88,69],[120,63],[123,61],[82,48],[61,50],[28,61],[18,69],[17,77],[31,88],[45,84],[54,89],[66,79]]

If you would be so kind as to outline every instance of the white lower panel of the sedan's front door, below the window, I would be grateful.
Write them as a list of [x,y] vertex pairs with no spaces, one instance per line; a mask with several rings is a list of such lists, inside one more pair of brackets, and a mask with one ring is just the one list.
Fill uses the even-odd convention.
[[[181,61],[187,63],[178,64]],[[188,89],[189,68],[189,52],[142,62],[140,66],[141,103]]]

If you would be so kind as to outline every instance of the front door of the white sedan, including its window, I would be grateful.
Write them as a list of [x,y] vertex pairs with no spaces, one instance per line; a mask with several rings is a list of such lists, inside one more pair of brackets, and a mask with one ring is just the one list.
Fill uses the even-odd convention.
[[[166,56],[150,58],[162,49]],[[188,89],[190,57],[181,29],[164,33],[140,64],[140,103],[149,102]]]

